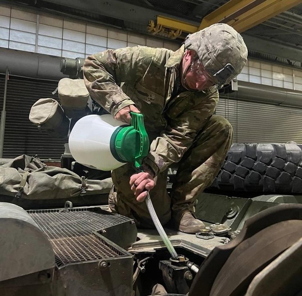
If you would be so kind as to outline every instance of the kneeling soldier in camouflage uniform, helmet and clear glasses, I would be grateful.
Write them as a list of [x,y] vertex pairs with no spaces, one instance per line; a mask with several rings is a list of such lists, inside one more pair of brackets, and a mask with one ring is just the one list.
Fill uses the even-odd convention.
[[[131,163],[112,171],[112,211],[133,218],[138,227],[153,228],[143,203],[149,190],[162,225],[172,218],[179,231],[204,228],[193,214],[194,202],[213,182],[233,137],[230,123],[214,115],[217,89],[236,77],[246,61],[242,37],[227,24],[188,35],[175,52],[136,46],[85,60],[84,80],[92,99],[127,123],[130,112],[141,112],[151,143],[144,172],[137,173]],[[169,196],[167,168],[176,162]]]

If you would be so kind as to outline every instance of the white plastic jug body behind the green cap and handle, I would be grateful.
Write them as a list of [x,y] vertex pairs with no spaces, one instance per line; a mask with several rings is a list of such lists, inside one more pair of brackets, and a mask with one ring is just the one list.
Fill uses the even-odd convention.
[[110,171],[125,164],[110,149],[110,140],[117,129],[128,126],[111,114],[86,115],[73,126],[69,135],[72,157],[82,165]]

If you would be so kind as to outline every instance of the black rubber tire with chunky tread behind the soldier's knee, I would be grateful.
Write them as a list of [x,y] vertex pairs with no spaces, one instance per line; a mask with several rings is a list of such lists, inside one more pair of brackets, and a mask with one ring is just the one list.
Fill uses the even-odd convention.
[[302,145],[233,144],[210,189],[302,193]]

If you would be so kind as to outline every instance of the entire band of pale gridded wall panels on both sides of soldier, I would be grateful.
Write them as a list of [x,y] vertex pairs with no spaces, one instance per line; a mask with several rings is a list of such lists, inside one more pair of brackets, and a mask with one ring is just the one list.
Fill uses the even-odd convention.
[[[176,50],[180,44],[0,5],[0,47],[85,58],[105,49],[136,45]],[[302,91],[302,70],[258,60],[249,59],[238,80]]]

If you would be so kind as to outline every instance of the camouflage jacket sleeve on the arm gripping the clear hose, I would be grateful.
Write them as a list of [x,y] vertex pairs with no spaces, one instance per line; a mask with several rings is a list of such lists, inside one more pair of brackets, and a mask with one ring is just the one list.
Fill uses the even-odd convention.
[[184,92],[173,100],[166,111],[168,125],[153,140],[144,159],[156,175],[182,158],[214,113],[218,98],[218,91],[212,88],[207,93]]

